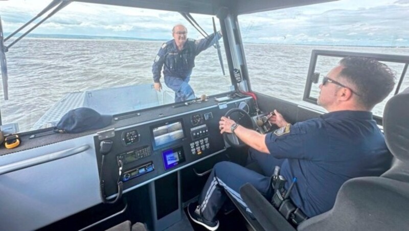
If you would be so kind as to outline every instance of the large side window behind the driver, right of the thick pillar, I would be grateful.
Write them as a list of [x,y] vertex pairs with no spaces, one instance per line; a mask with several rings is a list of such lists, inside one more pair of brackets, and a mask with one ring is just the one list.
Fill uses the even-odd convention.
[[[407,1],[342,0],[310,6],[240,15],[248,73],[254,91],[316,110],[303,101],[312,50],[409,55]],[[322,78],[339,57],[318,56],[315,72],[320,79],[311,86],[317,99]],[[382,117],[383,108],[405,72],[404,63],[384,62],[396,72],[395,89],[372,110]],[[399,91],[409,87],[405,74]]]

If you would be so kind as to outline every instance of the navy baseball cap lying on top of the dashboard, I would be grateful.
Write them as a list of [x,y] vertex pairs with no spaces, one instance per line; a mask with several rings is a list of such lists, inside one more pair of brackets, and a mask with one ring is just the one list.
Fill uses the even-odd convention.
[[79,107],[65,113],[56,126],[61,133],[79,133],[103,128],[111,124],[112,116],[102,115],[88,107]]

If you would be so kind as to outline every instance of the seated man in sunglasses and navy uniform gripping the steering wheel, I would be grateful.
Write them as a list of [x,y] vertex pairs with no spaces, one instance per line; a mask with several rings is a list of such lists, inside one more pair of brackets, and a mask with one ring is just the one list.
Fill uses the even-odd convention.
[[257,161],[263,174],[228,161],[216,164],[198,204],[189,204],[190,218],[209,230],[217,229],[216,214],[226,199],[224,190],[247,208],[238,193],[246,182],[270,199],[275,166],[281,166],[280,175],[287,179],[285,190],[297,177],[290,199],[305,215],[330,210],[345,181],[379,176],[391,166],[392,155],[370,111],[389,95],[394,79],[383,63],[347,57],[320,85],[318,103],[329,112],[319,118],[291,125],[275,110],[270,122],[279,129],[260,134],[222,117],[220,132],[234,132],[249,145],[249,161]]

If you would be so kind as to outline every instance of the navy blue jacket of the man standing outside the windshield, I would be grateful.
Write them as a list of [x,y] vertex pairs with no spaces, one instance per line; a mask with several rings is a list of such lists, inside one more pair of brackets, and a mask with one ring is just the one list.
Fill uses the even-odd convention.
[[152,65],[153,82],[160,82],[162,67],[164,76],[186,78],[192,73],[196,55],[211,47],[216,39],[220,38],[220,33],[198,40],[189,38],[181,51],[177,49],[174,39],[163,43]]

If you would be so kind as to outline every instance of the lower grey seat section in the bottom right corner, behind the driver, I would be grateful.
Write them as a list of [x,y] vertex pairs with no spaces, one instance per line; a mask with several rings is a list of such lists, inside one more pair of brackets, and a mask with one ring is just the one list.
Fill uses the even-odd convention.
[[409,184],[384,177],[348,180],[332,210],[301,223],[298,230],[405,230]]

